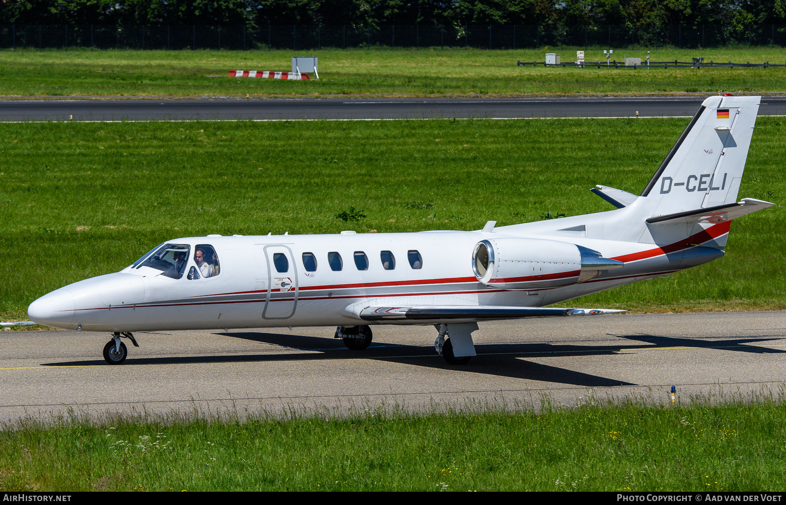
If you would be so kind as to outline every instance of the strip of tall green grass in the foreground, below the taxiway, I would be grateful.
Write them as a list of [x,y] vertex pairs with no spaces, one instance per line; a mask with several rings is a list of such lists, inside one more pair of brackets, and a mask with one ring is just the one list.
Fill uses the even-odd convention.
[[[543,400],[543,399],[542,399]],[[548,399],[545,399],[548,400]],[[773,491],[784,399],[284,418],[28,419],[0,488],[68,491]]]

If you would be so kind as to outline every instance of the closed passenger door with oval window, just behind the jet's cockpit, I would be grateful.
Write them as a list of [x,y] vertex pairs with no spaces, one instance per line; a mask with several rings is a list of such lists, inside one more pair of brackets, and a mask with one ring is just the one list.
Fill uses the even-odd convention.
[[267,298],[263,319],[288,319],[297,308],[298,282],[295,256],[286,245],[266,245]]

